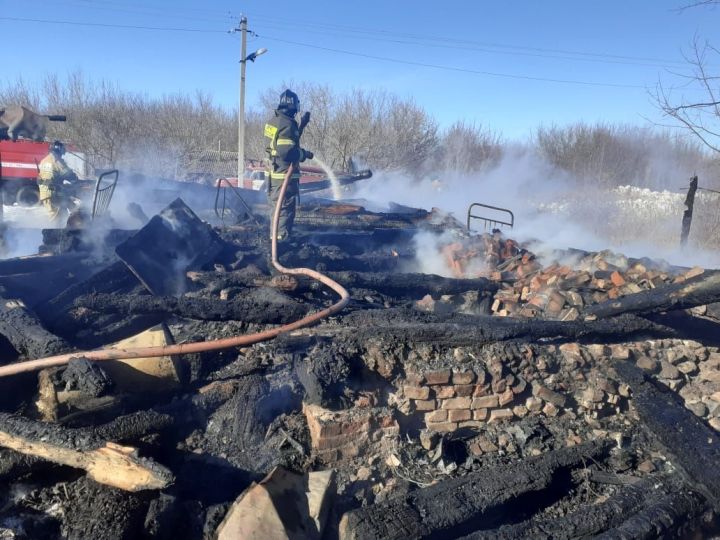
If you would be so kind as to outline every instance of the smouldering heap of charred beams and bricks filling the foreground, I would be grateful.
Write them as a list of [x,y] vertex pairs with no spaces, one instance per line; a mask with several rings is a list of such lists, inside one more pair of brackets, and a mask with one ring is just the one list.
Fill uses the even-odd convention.
[[[241,496],[265,501],[258,522],[290,531],[283,479],[306,537],[717,530],[713,271],[610,252],[538,257],[436,213],[313,203],[281,262],[346,286],[339,315],[240,349],[88,362],[83,350],[128,338],[210,341],[335,301],[270,271],[265,229],[212,228],[182,201],[167,212],[202,234],[165,241],[156,260],[140,241],[160,218],[107,235],[102,253],[55,231],[45,255],[0,261],[3,364],[77,351],[0,378],[3,535],[213,538],[237,525]],[[418,231],[437,234],[434,252],[416,251]],[[124,242],[128,264],[115,254]],[[452,277],[418,273],[428,257]],[[330,469],[316,497],[309,473]]]

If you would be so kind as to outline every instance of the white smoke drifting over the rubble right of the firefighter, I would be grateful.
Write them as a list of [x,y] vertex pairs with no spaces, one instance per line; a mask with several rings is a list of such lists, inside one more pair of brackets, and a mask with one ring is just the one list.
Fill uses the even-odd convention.
[[[682,183],[678,180],[678,186]],[[353,196],[367,199],[370,210],[388,210],[390,203],[437,208],[463,224],[471,203],[507,208],[515,214],[515,227],[512,231],[505,229],[506,235],[521,242],[536,241],[533,251],[541,257],[555,249],[610,249],[682,266],[720,267],[720,254],[693,245],[693,234],[691,245],[680,249],[683,193],[633,186],[609,191],[588,189],[523,148],[506,152],[496,166],[472,175],[447,172],[418,180],[396,172],[376,171],[372,179],[358,185]],[[703,195],[698,197],[698,201],[703,200]],[[490,210],[483,214],[504,217]],[[483,223],[473,223],[482,232]],[[696,217],[693,231],[712,225]],[[419,269],[451,276],[439,252],[449,241],[452,239],[447,235],[419,236]]]

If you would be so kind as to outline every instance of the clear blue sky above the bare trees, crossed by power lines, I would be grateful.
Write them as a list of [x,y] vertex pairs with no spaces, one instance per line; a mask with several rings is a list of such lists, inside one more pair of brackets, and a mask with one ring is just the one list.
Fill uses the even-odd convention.
[[283,81],[385,89],[441,126],[464,119],[523,139],[540,124],[659,121],[648,91],[678,81],[693,36],[712,39],[720,23],[720,9],[678,11],[687,2],[0,0],[3,75],[80,69],[151,96],[202,90],[231,108],[239,39],[226,30],[244,13],[257,34],[249,50],[269,49],[248,65],[249,106]]

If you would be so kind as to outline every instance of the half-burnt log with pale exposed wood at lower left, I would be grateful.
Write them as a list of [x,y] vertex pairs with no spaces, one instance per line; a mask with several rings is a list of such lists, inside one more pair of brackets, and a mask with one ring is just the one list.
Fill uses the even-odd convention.
[[67,429],[0,413],[0,446],[53,463],[84,469],[101,484],[127,491],[163,489],[172,473],[132,447],[106,441],[92,429]]

